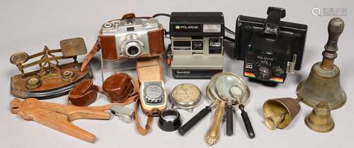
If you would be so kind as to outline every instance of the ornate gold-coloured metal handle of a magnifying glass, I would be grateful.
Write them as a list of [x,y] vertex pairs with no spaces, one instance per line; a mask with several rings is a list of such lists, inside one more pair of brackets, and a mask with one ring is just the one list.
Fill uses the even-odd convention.
[[213,145],[219,140],[219,128],[220,128],[220,123],[222,121],[222,117],[224,116],[224,111],[225,111],[225,104],[222,101],[218,102],[217,109],[215,110],[214,114],[214,122],[212,123],[212,126],[207,132],[207,135],[205,135],[205,140],[207,141],[208,145]]

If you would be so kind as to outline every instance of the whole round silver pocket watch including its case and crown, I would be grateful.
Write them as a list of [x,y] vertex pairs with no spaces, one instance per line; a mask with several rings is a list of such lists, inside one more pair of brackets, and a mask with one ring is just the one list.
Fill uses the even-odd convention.
[[172,108],[193,112],[193,108],[198,104],[200,98],[201,92],[197,86],[189,83],[177,85],[171,92]]

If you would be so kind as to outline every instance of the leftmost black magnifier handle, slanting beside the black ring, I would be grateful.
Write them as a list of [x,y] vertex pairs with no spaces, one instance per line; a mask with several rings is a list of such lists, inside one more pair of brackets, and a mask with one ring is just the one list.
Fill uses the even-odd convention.
[[193,118],[190,118],[190,120],[187,123],[185,123],[181,128],[179,128],[178,133],[182,136],[185,135],[185,133],[188,132],[188,130],[190,130],[191,128],[194,127],[194,125],[199,123],[199,121],[201,121],[202,118],[207,116],[207,114],[210,113],[210,111],[212,111],[212,108],[210,106],[205,106],[204,109],[200,110],[197,114],[195,114],[195,116],[193,116]]

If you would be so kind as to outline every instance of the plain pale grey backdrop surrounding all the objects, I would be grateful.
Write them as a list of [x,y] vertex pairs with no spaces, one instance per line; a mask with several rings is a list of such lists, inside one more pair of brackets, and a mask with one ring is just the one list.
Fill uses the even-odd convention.
[[[246,135],[241,116],[237,113],[235,135],[228,137],[222,125],[221,138],[213,147],[353,147],[354,104],[352,101],[353,84],[353,1],[1,1],[0,6],[0,144],[1,147],[207,147],[204,136],[210,127],[212,113],[187,135],[181,137],[177,132],[164,132],[156,125],[155,118],[152,132],[142,136],[135,130],[135,125],[122,123],[118,118],[110,121],[78,120],[74,121],[98,140],[91,144],[64,135],[33,121],[25,121],[10,113],[8,103],[13,99],[10,94],[11,75],[18,74],[16,66],[9,62],[9,57],[16,51],[34,54],[42,50],[44,45],[52,49],[59,47],[59,40],[71,37],[84,37],[88,50],[93,46],[98,29],[107,21],[120,18],[124,13],[135,12],[137,16],[152,16],[154,13],[171,13],[173,11],[222,11],[225,24],[234,30],[236,17],[266,17],[268,6],[286,8],[287,16],[283,20],[308,25],[307,42],[304,52],[302,70],[288,75],[284,84],[267,87],[255,82],[246,83],[251,89],[251,101],[246,110],[249,113],[256,138]],[[318,133],[309,130],[304,124],[304,117],[312,109],[301,104],[302,109],[292,123],[284,130],[268,130],[263,123],[261,107],[266,99],[278,97],[295,97],[295,88],[300,80],[307,78],[313,63],[321,60],[321,52],[327,40],[327,24],[331,17],[313,16],[314,7],[347,8],[347,16],[343,16],[346,28],[339,39],[338,58],[335,63],[341,69],[341,86],[346,90],[348,101],[341,109],[332,111],[336,127],[329,133]],[[166,29],[169,19],[161,17],[160,22]],[[166,40],[166,44],[169,43]],[[226,49],[224,71],[241,75],[243,61],[235,61]],[[100,57],[93,62],[96,85],[101,85]],[[82,60],[84,57],[80,57]],[[166,87],[171,90],[182,82],[198,85],[204,94],[208,80],[174,80],[166,69]],[[66,103],[67,96],[47,101]],[[193,113],[180,111],[183,123],[207,105],[203,97]],[[94,105],[108,104],[105,97],[100,97]],[[140,113],[142,116],[143,114]],[[146,118],[142,117],[145,122]]]

